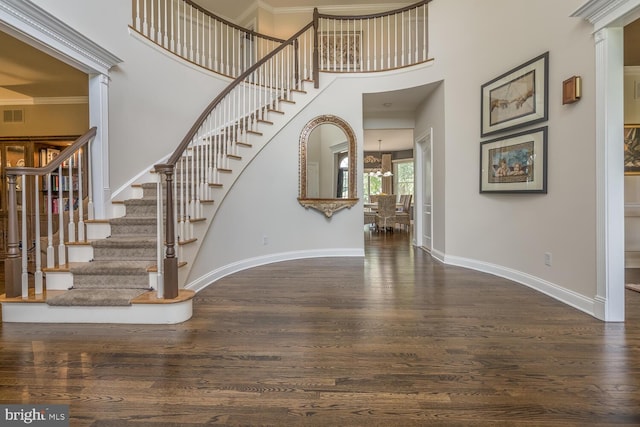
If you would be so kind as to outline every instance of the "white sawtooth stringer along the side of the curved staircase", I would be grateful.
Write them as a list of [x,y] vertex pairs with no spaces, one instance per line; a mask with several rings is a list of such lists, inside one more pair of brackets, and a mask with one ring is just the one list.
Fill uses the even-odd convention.
[[[337,78],[336,75],[323,76],[323,86],[314,88],[312,81],[304,81],[301,90],[291,93],[289,102],[281,102],[278,111],[269,112],[268,123],[258,123],[258,134],[248,135],[249,140],[245,141],[249,145],[241,147],[240,157],[232,160],[231,173],[220,175],[220,185],[212,188],[211,194],[213,203],[201,204],[202,220],[191,224],[192,229],[187,233],[188,243],[178,242],[178,286],[179,288],[189,288],[187,278],[193,261],[198,256],[203,237],[213,223],[216,213],[224,201],[225,197],[232,190],[235,182],[240,178],[244,170],[260,154],[260,152],[274,139],[287,124],[302,112],[313,100],[326,88],[330,87]],[[293,101],[293,102],[291,102]]]

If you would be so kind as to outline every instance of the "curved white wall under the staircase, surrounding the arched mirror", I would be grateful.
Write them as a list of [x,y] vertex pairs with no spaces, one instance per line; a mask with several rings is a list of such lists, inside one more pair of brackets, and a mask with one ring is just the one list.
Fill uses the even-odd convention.
[[362,195],[362,94],[424,84],[436,79],[435,70],[433,65],[425,65],[400,73],[342,75],[331,84],[321,76],[323,92],[276,135],[221,201],[188,282],[202,283],[207,277],[247,266],[297,257],[363,256],[362,201],[330,219],[298,203],[300,132],[323,114],[349,123],[358,146],[357,194]]

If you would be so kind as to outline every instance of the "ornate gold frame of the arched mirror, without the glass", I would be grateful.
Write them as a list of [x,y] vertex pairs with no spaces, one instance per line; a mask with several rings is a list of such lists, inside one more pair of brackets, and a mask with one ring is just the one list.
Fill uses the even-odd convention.
[[[318,126],[323,124],[331,124],[340,128],[346,138],[349,146],[349,189],[347,198],[309,198],[307,197],[307,153],[309,136],[311,132]],[[356,197],[356,136],[353,129],[347,122],[340,117],[333,115],[322,115],[307,123],[300,133],[300,165],[299,165],[299,197],[298,202],[305,208],[316,209],[330,218],[335,212],[351,208],[358,203]]]

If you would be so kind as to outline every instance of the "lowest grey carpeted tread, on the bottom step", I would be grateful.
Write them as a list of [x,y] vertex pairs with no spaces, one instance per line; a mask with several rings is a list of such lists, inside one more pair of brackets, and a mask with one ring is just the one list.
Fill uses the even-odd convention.
[[149,289],[71,289],[47,297],[47,304],[55,306],[127,306],[131,300]]

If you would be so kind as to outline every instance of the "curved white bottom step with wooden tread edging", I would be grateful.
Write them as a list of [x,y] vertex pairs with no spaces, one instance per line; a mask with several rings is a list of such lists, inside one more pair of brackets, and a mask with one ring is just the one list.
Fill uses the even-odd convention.
[[[29,297],[7,298],[0,295],[4,323],[123,323],[175,324],[189,320],[193,314],[194,291],[180,289],[173,299],[157,298],[156,291],[145,292],[131,300],[128,306],[52,306],[47,294],[66,291],[50,290],[36,295],[29,289]],[[117,319],[114,321],[114,319]]]

